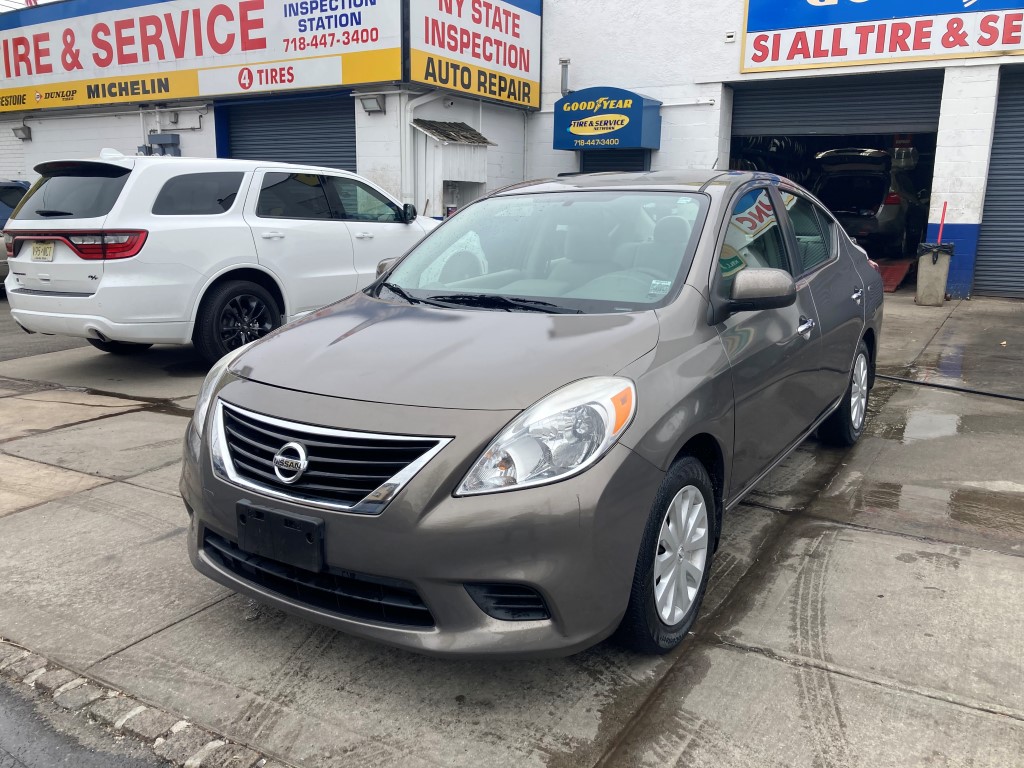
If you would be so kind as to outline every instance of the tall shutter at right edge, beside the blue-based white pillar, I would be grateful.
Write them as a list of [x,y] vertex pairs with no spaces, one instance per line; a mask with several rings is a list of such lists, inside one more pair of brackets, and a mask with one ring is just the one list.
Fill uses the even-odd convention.
[[978,240],[974,292],[1024,298],[1021,179],[1024,178],[1024,70],[1004,69]]

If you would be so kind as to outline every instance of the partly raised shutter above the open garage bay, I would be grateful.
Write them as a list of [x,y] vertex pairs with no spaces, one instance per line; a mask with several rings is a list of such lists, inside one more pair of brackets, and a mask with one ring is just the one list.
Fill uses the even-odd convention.
[[935,133],[942,70],[733,83],[732,135]]

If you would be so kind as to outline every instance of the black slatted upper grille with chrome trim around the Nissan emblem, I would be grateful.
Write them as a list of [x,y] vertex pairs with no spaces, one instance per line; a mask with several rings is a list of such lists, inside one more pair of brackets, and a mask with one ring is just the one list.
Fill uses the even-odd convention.
[[[227,454],[238,478],[279,497],[333,508],[350,509],[371,497],[367,511],[380,511],[382,503],[393,498],[447,442],[296,424],[227,403],[221,413]],[[296,482],[286,483],[274,473],[273,457],[290,442],[305,447],[309,464]],[[379,488],[386,493],[371,496]]]

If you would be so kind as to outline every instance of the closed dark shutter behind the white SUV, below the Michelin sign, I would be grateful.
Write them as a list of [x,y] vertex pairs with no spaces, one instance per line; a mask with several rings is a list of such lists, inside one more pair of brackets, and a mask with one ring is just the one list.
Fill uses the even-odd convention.
[[229,157],[355,170],[355,99],[348,91],[218,105]]

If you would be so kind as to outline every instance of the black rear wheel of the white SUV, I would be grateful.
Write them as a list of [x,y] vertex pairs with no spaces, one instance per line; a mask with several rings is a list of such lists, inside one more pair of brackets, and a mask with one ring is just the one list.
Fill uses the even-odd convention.
[[208,362],[216,362],[280,326],[281,308],[269,291],[237,280],[217,286],[203,299],[193,343]]

